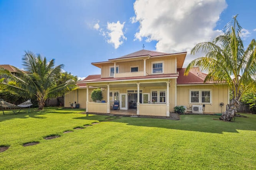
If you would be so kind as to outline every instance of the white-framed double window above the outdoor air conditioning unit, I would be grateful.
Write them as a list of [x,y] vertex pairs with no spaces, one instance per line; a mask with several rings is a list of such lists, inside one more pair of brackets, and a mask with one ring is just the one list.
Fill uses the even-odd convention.
[[211,103],[211,91],[210,90],[191,90],[190,91],[190,103]]

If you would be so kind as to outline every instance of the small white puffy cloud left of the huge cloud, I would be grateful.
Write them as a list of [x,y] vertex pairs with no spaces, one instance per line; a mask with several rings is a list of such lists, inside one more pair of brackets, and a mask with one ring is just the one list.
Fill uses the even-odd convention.
[[114,44],[115,49],[122,45],[123,40],[126,40],[124,32],[122,31],[124,28],[124,23],[125,22],[121,24],[120,21],[117,21],[116,23],[108,23],[107,29],[109,32],[107,32],[107,35],[109,39],[107,40],[107,42],[110,44]]

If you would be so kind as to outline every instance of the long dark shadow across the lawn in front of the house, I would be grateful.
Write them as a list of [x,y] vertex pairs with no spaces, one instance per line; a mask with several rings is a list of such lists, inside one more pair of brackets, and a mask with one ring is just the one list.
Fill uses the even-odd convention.
[[[86,119],[106,121],[106,115],[85,115],[74,119]],[[181,115],[181,120],[174,121],[170,119],[154,119],[142,117],[121,117],[121,119],[112,119],[111,122],[126,123],[133,126],[159,127],[166,129],[176,129],[184,131],[198,131],[205,133],[231,132],[239,133],[237,130],[256,131],[256,116],[252,121],[250,118],[237,117],[234,122],[224,122],[218,120],[216,115]]]

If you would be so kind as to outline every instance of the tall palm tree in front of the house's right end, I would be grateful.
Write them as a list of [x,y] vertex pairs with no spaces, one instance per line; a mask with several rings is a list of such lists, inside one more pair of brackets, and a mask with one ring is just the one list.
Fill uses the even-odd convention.
[[247,49],[241,39],[242,27],[236,20],[226,24],[223,34],[212,42],[198,43],[191,54],[205,53],[188,64],[185,74],[195,66],[208,72],[204,82],[225,82],[232,90],[235,111],[240,107],[243,94],[256,85],[256,41],[252,39]]

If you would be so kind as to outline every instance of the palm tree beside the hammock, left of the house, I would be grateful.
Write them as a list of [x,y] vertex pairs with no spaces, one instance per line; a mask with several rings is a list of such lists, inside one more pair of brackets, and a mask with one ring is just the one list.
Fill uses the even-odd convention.
[[2,85],[22,96],[36,96],[38,109],[43,109],[47,98],[62,96],[66,91],[76,88],[76,82],[73,80],[59,83],[61,69],[64,65],[54,67],[54,59],[47,62],[46,58],[42,59],[40,54],[36,56],[32,52],[25,51],[22,63],[24,71],[20,70],[16,75],[6,70],[0,72],[2,75],[8,75],[9,80],[8,83],[2,82]]

